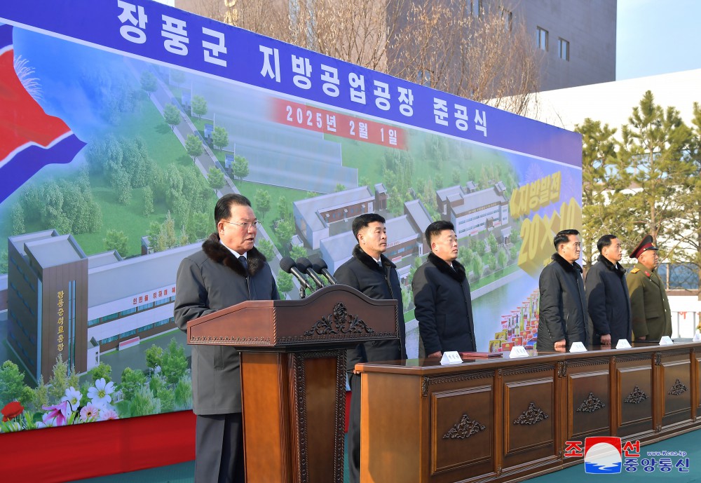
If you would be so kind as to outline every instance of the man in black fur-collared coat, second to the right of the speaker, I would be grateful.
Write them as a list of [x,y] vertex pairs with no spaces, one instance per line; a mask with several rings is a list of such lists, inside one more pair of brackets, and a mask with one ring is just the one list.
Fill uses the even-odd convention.
[[470,284],[465,267],[457,261],[455,227],[451,222],[433,222],[425,234],[431,252],[411,282],[421,338],[419,356],[440,358],[446,351],[475,351]]

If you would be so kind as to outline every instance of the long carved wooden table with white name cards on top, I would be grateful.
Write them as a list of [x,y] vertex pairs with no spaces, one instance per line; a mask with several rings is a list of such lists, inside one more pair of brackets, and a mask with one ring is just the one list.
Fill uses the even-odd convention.
[[580,463],[565,442],[701,425],[701,343],[359,364],[362,483],[511,482]]

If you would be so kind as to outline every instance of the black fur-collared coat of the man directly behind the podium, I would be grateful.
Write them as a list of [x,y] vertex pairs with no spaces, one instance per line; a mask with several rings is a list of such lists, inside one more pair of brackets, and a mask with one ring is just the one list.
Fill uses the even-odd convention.
[[343,285],[358,290],[371,299],[397,301],[399,313],[399,339],[361,343],[348,349],[346,369],[353,368],[360,362],[378,362],[381,360],[400,360],[407,358],[407,329],[404,325],[404,307],[402,306],[402,287],[399,285],[397,266],[384,255],[380,256],[382,268],[377,262],[362,251],[360,245],[353,248],[353,257],[339,266],[334,278]]

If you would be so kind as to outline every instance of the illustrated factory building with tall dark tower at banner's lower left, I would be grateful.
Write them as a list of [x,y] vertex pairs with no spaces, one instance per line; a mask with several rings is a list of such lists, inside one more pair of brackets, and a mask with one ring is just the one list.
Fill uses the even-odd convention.
[[55,230],[8,238],[8,345],[32,376],[58,355],[86,372],[100,353],[176,329],[175,274],[200,243],[123,260],[86,256]]

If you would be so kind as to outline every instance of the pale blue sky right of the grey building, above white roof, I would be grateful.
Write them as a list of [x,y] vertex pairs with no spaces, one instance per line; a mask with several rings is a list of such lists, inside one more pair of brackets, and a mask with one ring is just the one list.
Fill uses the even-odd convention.
[[618,0],[616,80],[701,69],[700,0]]

